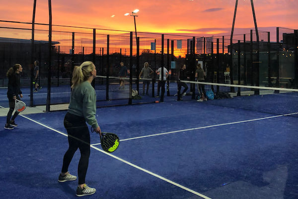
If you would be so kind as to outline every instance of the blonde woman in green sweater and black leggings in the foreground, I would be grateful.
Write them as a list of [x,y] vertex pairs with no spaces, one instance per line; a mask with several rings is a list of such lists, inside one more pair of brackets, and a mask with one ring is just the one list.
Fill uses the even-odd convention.
[[59,175],[59,182],[74,181],[76,176],[68,172],[69,165],[74,153],[80,150],[78,163],[78,187],[76,196],[92,195],[96,189],[85,184],[89,156],[90,156],[90,134],[86,122],[92,126],[94,131],[101,135],[100,127],[95,118],[96,94],[91,82],[96,77],[96,69],[92,62],[83,62],[74,67],[72,79],[72,94],[69,110],[64,118],[64,126],[68,133],[69,148],[63,158],[63,166]]

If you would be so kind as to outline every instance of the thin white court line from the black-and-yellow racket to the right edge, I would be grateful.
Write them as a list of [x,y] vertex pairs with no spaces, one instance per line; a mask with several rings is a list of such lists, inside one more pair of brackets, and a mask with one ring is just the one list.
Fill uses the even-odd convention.
[[[243,123],[243,122],[257,121],[257,120],[262,120],[262,119],[269,119],[269,118],[274,118],[274,117],[282,117],[282,116],[294,115],[294,114],[298,114],[298,112],[289,113],[289,114],[283,114],[283,115],[275,115],[275,116],[270,116],[270,117],[262,117],[262,118],[257,118],[257,119],[235,121],[235,122],[229,122],[229,123],[224,123],[224,124],[215,124],[215,125],[210,125],[210,126],[202,126],[202,127],[197,127],[197,128],[189,128],[189,129],[183,129],[183,130],[177,130],[177,131],[170,131],[170,132],[165,132],[165,133],[156,133],[156,134],[151,134],[151,135],[145,135],[145,136],[140,136],[140,137],[133,137],[133,138],[128,138],[128,139],[123,139],[123,140],[119,140],[119,141],[134,140],[134,139],[140,139],[140,138],[145,138],[145,137],[152,137],[152,136],[157,136],[157,135],[165,135],[165,134],[171,134],[171,133],[177,133],[177,132],[197,130],[197,129],[202,129],[202,128],[211,128],[211,127],[216,127],[216,126],[224,126],[224,125],[237,124],[237,123]],[[95,145],[100,145],[100,143],[92,144],[92,146],[95,146]]]

